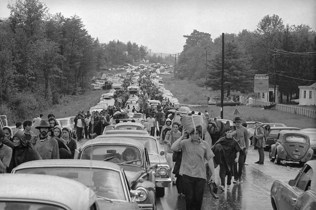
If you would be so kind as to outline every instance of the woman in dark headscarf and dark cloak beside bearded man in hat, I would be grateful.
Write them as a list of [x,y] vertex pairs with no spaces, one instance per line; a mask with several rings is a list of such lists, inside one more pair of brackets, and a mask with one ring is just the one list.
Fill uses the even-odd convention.
[[13,136],[14,148],[12,151],[12,159],[9,166],[9,172],[11,170],[28,161],[42,160],[40,154],[34,148],[30,141],[27,141],[23,131],[18,131]]

